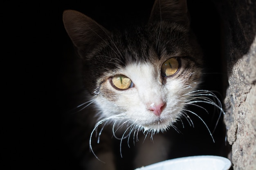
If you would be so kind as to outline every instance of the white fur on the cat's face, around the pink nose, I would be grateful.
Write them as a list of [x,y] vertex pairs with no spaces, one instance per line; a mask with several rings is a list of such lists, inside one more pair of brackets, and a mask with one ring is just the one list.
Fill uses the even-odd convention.
[[[183,95],[192,89],[184,84],[184,80],[174,77],[166,77],[163,83],[160,66],[160,63],[159,68],[151,63],[140,63],[121,68],[120,73],[129,77],[134,86],[120,91],[108,82],[108,87],[115,91],[118,99],[110,102],[101,95],[97,96],[97,104],[102,108],[103,115],[125,118],[144,130],[158,132],[172,126],[186,103]],[[166,106],[157,116],[149,108],[160,103],[166,103]]]

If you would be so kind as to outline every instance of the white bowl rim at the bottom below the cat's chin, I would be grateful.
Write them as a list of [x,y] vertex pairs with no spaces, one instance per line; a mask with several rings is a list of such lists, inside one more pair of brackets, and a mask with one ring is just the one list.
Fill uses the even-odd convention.
[[220,156],[200,155],[169,159],[136,170],[229,170],[231,162]]

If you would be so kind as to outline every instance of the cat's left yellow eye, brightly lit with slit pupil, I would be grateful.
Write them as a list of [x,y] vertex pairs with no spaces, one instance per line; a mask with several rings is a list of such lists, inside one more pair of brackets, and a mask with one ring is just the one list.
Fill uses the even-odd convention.
[[132,81],[125,75],[115,75],[111,81],[116,88],[122,90],[132,87]]

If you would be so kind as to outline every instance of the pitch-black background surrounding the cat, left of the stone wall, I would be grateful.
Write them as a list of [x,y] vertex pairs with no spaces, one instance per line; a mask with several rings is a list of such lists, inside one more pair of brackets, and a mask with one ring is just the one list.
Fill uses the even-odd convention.
[[[4,107],[8,111],[2,119],[4,169],[79,169],[63,141],[63,113],[70,106],[70,96],[62,77],[69,72],[69,63],[73,61],[69,55],[73,53],[72,43],[62,22],[63,11],[74,9],[108,29],[123,29],[131,22],[144,21],[152,5],[153,0],[38,1],[3,5],[2,8],[8,7],[3,9],[2,18],[6,22],[4,29],[9,31],[4,35],[8,47],[4,51],[11,58],[8,60],[11,68],[17,68],[15,74],[7,76],[13,93],[5,98]],[[221,20],[212,1],[189,0],[188,6],[191,26],[205,54],[207,70],[202,88],[218,91],[222,100],[226,74],[222,71],[225,62],[221,55]],[[216,116],[204,116],[212,131]],[[182,140],[173,157],[226,156],[222,121],[213,134],[214,144],[202,122],[197,118],[193,120],[200,125],[195,128],[186,125],[182,134],[177,134]]]

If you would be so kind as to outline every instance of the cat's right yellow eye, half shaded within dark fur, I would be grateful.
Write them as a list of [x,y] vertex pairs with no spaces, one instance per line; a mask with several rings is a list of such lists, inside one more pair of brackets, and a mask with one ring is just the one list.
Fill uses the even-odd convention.
[[177,72],[179,69],[179,62],[175,58],[166,60],[162,65],[161,71],[164,76],[170,76]]

